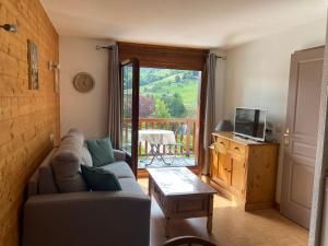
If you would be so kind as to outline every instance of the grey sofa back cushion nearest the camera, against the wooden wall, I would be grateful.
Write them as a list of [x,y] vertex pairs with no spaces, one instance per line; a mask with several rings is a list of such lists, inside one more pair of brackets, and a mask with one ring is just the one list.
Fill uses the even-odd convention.
[[87,186],[79,172],[82,162],[83,134],[66,136],[52,157],[52,169],[60,192],[78,192],[87,190]]

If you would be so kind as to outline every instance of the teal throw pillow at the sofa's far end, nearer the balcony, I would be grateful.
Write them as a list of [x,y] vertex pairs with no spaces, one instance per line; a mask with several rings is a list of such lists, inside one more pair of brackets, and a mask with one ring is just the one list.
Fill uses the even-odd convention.
[[110,139],[86,140],[87,149],[92,156],[93,166],[103,166],[115,162]]

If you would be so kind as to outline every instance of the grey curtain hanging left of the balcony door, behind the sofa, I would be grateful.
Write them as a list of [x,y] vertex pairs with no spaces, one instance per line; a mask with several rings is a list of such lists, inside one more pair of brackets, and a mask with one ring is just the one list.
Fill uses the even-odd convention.
[[121,149],[122,128],[122,84],[119,79],[118,46],[114,45],[109,52],[108,66],[108,89],[109,89],[109,110],[108,110],[108,134],[113,148]]

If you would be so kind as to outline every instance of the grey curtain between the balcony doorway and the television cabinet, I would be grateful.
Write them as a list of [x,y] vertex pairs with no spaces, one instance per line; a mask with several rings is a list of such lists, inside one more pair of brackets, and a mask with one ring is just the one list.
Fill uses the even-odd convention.
[[208,175],[209,168],[209,145],[211,144],[211,133],[215,128],[215,68],[216,55],[210,54],[207,58],[208,86],[207,86],[207,105],[203,132],[203,151],[204,164],[202,174]]

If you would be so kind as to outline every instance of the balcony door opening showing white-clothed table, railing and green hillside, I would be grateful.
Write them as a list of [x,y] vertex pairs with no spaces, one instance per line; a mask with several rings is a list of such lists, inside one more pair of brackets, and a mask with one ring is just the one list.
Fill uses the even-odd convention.
[[196,165],[200,83],[201,71],[140,68],[139,168]]

